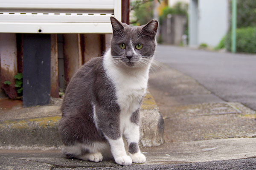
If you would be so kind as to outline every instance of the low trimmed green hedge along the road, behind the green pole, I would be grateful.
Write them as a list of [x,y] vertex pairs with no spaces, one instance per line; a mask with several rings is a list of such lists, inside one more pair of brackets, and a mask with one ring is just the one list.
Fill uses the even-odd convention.
[[[225,46],[231,51],[231,32],[227,34]],[[236,29],[236,51],[256,53],[256,27]]]

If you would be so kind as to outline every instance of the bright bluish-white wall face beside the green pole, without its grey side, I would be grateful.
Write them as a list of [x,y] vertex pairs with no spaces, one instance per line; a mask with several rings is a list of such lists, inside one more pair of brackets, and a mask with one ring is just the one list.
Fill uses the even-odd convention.
[[228,0],[198,0],[198,45],[215,47],[228,31]]

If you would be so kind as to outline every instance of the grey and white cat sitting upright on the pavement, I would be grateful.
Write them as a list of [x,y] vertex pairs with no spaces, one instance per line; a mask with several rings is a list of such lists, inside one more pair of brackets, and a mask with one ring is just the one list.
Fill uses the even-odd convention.
[[111,17],[111,25],[111,48],[85,63],[67,86],[58,128],[62,152],[69,158],[99,162],[110,150],[117,164],[144,163],[138,146],[139,110],[157,45],[158,22],[129,26]]

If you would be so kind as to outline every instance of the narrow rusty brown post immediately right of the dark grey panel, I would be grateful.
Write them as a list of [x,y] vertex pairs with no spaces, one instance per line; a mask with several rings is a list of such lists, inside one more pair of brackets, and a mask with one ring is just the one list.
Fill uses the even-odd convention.
[[59,97],[57,34],[51,34],[51,96],[56,98]]

